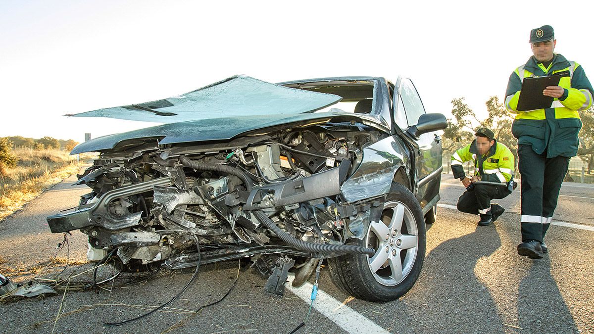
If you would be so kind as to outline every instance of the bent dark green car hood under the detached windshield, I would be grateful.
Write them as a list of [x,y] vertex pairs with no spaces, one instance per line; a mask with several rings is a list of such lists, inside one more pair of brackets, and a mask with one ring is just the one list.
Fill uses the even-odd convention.
[[241,117],[198,119],[195,121],[157,125],[127,133],[111,134],[78,144],[71,155],[113,149],[118,143],[140,138],[155,138],[159,144],[188,143],[193,141],[229,140],[240,134],[258,134],[256,130],[283,124],[311,125],[315,122],[355,121],[389,131],[377,116],[351,112],[320,112],[315,114],[276,114]]

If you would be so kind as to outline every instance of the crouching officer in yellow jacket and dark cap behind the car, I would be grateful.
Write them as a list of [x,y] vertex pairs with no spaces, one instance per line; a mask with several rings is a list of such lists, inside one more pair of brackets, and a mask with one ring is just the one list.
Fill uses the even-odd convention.
[[[479,214],[478,225],[486,226],[497,220],[505,211],[493,198],[504,198],[514,188],[514,155],[504,144],[495,140],[488,128],[480,128],[475,140],[451,156],[451,171],[460,179],[466,191],[458,199],[458,210]],[[463,163],[472,160],[475,172],[472,178],[464,174]]]

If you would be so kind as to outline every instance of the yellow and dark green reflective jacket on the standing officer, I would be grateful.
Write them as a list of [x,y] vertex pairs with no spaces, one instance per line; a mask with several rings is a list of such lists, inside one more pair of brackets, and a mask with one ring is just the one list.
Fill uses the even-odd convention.
[[[559,82],[564,94],[554,99],[550,108],[517,111],[524,78],[561,73],[568,74]],[[516,114],[511,133],[518,139],[518,144],[530,145],[538,154],[546,150],[547,157],[575,156],[579,147],[577,134],[582,128],[578,111],[592,106],[593,94],[592,84],[576,62],[568,61],[557,53],[549,67],[545,68],[530,57],[526,64],[511,73],[507,84],[505,108]]]

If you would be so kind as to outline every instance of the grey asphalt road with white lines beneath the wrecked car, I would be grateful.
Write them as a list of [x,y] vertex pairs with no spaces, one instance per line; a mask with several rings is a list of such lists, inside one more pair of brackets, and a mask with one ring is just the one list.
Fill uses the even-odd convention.
[[[336,288],[323,268],[323,293],[299,333],[594,332],[594,232],[552,226],[545,259],[519,257],[515,252],[520,241],[519,193],[500,201],[508,210],[494,226],[480,227],[476,216],[448,209],[463,188],[443,176],[445,207],[440,207],[437,222],[427,232],[425,264],[413,289],[397,301],[368,303]],[[19,272],[43,267],[52,259],[63,237],[50,234],[45,217],[68,209],[86,193],[85,187],[70,187],[74,180],[56,185],[0,222],[0,273],[23,282],[29,276]],[[593,225],[594,188],[567,184],[562,194],[555,220]],[[68,241],[69,259],[83,262],[85,236],[74,232]],[[63,248],[58,258],[63,262],[67,257]],[[146,313],[138,307],[169,300],[189,281],[192,270],[160,272],[112,291],[72,289],[64,294],[62,290],[59,295],[0,304],[0,332],[160,333],[175,326],[179,333],[288,333],[302,322],[308,304],[300,296],[308,291],[287,289],[280,298],[267,295],[264,279],[245,268],[222,303],[198,314],[185,311],[218,300],[233,285],[237,272],[236,261],[203,266],[185,294],[169,305],[172,308],[121,327],[103,323],[138,316]],[[139,276],[144,277],[125,275],[115,285]],[[56,322],[59,312],[63,316]]]

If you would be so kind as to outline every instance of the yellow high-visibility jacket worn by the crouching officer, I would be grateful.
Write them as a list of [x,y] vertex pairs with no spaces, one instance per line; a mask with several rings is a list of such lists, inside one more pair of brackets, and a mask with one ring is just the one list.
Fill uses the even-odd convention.
[[457,150],[451,156],[451,171],[454,178],[465,176],[463,163],[472,160],[475,164],[475,176],[481,176],[482,183],[505,184],[512,178],[515,163],[514,155],[504,144],[498,143],[491,146],[485,155],[479,155],[476,150],[476,140],[468,146]]

